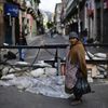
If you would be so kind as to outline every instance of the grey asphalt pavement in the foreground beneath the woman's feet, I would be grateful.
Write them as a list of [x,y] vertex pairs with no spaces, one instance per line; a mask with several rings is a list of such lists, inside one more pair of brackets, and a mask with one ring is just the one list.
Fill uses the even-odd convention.
[[94,93],[83,96],[82,104],[71,106],[68,98],[55,98],[19,92],[15,86],[0,86],[0,108],[108,108],[108,81],[91,84]]

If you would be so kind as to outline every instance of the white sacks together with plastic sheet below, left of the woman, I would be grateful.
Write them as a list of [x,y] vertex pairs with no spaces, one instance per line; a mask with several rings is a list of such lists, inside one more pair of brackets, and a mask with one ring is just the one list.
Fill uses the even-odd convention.
[[0,80],[0,85],[13,85],[19,89],[19,91],[29,91],[31,93],[43,94],[51,97],[69,97],[69,95],[65,93],[64,89],[65,77],[56,76],[56,68],[38,68],[29,72],[24,71],[22,76],[19,76],[18,72],[8,72],[8,69],[4,70],[6,70],[6,72],[3,71],[3,76]]

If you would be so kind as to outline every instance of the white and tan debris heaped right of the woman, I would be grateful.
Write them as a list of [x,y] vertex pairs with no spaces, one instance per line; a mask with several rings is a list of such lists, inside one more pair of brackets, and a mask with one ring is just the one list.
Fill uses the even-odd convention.
[[[91,59],[89,56],[94,60],[107,59],[107,54],[105,53],[92,54],[87,52],[85,59]],[[87,65],[87,72],[90,82],[93,82],[93,78],[106,78],[108,76],[108,65]]]

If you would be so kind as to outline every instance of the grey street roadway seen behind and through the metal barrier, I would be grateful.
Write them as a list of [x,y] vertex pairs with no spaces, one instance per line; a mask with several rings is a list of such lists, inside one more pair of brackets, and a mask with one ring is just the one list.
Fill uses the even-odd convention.
[[[33,40],[31,44],[29,45],[52,45],[52,44],[67,44],[68,40],[66,40],[63,36],[56,35],[53,38],[49,36],[36,36],[39,37],[38,39]],[[27,50],[27,62],[31,62],[38,52],[39,49],[32,49],[32,50]],[[50,60],[54,59],[56,53],[56,49],[41,49],[39,52],[39,56],[37,57],[37,60]],[[59,57],[64,58],[66,56],[66,49],[59,49],[58,50]]]

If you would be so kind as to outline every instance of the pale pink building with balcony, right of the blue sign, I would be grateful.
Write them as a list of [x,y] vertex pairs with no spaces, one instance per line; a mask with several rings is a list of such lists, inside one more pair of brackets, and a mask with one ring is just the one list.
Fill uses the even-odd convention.
[[[21,25],[22,29],[29,37],[38,33],[38,10],[40,0],[24,0],[26,11],[21,11]],[[22,31],[21,31],[22,32]]]

